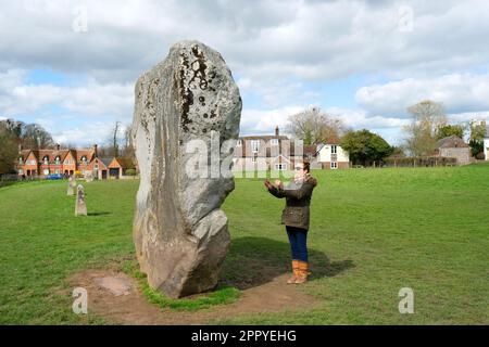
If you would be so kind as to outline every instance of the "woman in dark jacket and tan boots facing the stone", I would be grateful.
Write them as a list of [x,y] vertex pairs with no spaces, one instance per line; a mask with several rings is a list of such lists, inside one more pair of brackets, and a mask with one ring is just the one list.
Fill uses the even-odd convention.
[[288,284],[308,281],[309,205],[316,185],[317,180],[311,176],[309,163],[296,165],[293,181],[286,188],[279,180],[275,181],[275,185],[265,180],[265,187],[272,195],[286,198],[281,223],[286,226],[292,253],[292,277],[287,281]]

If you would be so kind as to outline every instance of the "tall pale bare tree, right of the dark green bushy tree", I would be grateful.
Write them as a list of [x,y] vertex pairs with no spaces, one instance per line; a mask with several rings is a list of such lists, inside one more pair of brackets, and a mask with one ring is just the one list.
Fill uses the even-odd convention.
[[408,107],[412,121],[404,127],[406,149],[412,155],[429,155],[436,150],[437,129],[447,124],[443,106],[430,100]]

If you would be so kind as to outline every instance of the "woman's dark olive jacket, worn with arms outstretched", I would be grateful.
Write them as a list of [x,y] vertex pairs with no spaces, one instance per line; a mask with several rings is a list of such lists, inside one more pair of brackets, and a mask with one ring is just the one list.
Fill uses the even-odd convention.
[[281,223],[309,230],[309,205],[313,189],[317,180],[310,176],[303,182],[292,181],[285,188],[272,187],[268,192],[278,197],[286,198],[286,207],[281,213]]

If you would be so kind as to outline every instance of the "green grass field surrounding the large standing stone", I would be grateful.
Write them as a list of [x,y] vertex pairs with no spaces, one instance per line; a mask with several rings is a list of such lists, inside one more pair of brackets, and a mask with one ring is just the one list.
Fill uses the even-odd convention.
[[[321,304],[217,323],[489,323],[489,165],[313,175],[313,277],[300,290]],[[72,298],[57,293],[77,271],[134,257],[138,181],[85,185],[90,216],[80,218],[66,182],[0,189],[0,323],[111,323],[74,314]],[[283,204],[262,180],[236,181],[223,206],[231,233],[224,281],[289,269]],[[414,314],[399,313],[401,287],[414,291]]]

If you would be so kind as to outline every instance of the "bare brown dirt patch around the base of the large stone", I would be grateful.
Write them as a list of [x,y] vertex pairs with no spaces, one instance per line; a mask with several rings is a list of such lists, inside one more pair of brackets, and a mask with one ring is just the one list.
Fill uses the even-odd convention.
[[[311,309],[318,300],[302,293],[299,285],[286,284],[290,274],[280,274],[272,281],[246,288],[238,300],[198,311],[161,309],[148,303],[136,280],[113,270],[87,270],[68,280],[73,287],[85,287],[88,293],[88,313],[95,313],[118,324],[171,325],[206,324],[216,319],[236,318],[242,314],[297,311]],[[109,283],[109,286],[102,283]],[[111,290],[115,283],[124,294]],[[115,293],[118,293],[117,295]]]

